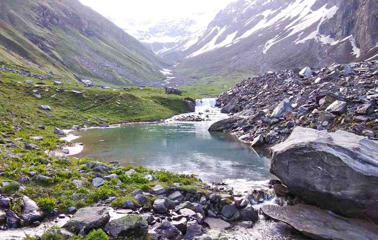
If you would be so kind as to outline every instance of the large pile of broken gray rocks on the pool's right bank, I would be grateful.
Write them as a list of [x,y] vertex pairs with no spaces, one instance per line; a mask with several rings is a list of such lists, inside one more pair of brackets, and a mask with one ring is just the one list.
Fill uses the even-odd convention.
[[223,113],[239,118],[227,131],[254,146],[271,146],[296,126],[377,140],[377,99],[378,62],[367,61],[250,77],[222,93],[218,103]]

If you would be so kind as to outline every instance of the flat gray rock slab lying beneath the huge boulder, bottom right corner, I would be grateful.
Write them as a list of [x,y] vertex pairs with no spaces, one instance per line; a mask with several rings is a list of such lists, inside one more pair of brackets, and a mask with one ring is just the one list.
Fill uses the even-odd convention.
[[315,206],[305,204],[286,207],[265,205],[261,207],[261,211],[313,239],[378,239],[378,225],[366,220],[342,217]]

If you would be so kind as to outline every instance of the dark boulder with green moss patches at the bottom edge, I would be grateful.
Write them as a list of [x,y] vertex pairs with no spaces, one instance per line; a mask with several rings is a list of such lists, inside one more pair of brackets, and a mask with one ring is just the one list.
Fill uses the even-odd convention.
[[113,238],[145,240],[149,224],[142,215],[128,214],[106,224],[104,231]]

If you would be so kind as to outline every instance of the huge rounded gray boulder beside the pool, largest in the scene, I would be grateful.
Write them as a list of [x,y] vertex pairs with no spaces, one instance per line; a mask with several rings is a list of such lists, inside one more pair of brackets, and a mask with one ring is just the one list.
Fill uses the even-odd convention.
[[378,144],[345,131],[296,127],[271,148],[271,173],[306,202],[347,217],[378,218]]

